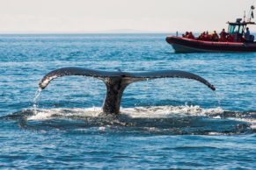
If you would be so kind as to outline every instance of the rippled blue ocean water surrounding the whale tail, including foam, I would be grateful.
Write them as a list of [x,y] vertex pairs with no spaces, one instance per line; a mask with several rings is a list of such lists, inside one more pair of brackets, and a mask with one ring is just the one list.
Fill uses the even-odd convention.
[[[256,53],[174,53],[166,34],[0,35],[0,168],[254,169]],[[135,82],[104,116],[104,83],[40,79],[60,67],[176,69]]]

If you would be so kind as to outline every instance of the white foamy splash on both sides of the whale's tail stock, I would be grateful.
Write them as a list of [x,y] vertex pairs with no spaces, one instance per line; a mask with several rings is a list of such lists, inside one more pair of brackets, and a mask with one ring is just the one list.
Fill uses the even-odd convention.
[[[75,108],[75,109],[44,109],[37,110],[37,114],[28,117],[28,120],[43,120],[51,117],[99,117],[102,109]],[[221,108],[204,110],[199,106],[159,106],[159,107],[136,107],[121,108],[121,115],[128,117],[187,117],[187,116],[208,116],[223,113]]]

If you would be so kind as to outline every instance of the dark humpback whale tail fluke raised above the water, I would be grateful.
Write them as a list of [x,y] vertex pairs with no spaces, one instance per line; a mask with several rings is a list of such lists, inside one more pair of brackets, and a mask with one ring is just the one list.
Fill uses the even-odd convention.
[[82,67],[62,67],[46,74],[40,81],[40,89],[45,89],[48,83],[55,78],[66,75],[91,76],[102,80],[106,84],[106,98],[103,104],[103,112],[106,114],[118,114],[120,111],[121,96],[128,84],[135,81],[147,81],[157,78],[187,78],[201,81],[209,89],[215,87],[197,74],[179,70],[163,70],[151,72],[108,72]]

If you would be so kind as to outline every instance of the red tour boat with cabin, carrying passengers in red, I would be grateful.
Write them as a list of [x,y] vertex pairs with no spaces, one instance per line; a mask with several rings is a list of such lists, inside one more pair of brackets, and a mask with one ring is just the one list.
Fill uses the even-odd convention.
[[256,52],[254,36],[250,34],[247,25],[255,25],[252,22],[254,6],[251,6],[250,17],[242,21],[238,18],[236,22],[228,22],[228,32],[220,33],[220,38],[214,32],[201,33],[194,38],[192,32],[187,32],[182,37],[168,36],[166,41],[172,45],[176,53],[203,53],[203,52]]

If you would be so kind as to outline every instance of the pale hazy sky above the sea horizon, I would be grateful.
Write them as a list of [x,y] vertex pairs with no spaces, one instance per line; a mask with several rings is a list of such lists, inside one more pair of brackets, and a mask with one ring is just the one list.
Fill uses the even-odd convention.
[[[0,32],[221,30],[254,0],[0,0]],[[256,17],[256,11],[255,11]],[[256,26],[251,26],[256,31]]]

